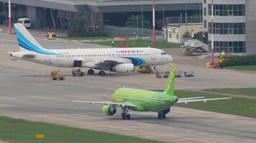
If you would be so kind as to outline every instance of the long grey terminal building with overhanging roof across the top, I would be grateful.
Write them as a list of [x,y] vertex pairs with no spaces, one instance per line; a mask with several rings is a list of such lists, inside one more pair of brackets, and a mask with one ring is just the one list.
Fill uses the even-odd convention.
[[[7,19],[6,11],[8,0],[0,0],[1,16]],[[160,0],[155,2],[155,10],[191,11],[201,9],[201,0]],[[93,29],[104,26],[104,14],[113,12],[140,12],[152,11],[152,0],[12,0],[12,17],[17,20],[22,16],[31,19],[36,29],[49,26],[65,27],[76,16],[88,19]],[[8,12],[8,11],[7,11]],[[161,17],[162,18],[162,17]],[[119,20],[119,19],[115,19]]]

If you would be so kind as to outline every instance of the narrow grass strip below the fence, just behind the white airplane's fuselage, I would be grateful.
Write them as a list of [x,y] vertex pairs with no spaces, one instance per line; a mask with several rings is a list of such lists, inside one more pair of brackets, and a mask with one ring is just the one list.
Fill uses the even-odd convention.
[[[111,46],[111,41],[99,41],[95,42],[99,45],[104,46]],[[121,41],[114,41],[115,47],[121,47],[124,42]],[[165,48],[178,48],[180,47],[180,44],[174,44],[174,43],[168,43],[166,41],[157,41],[155,46],[152,46],[152,41],[147,40],[128,40],[125,42],[128,47],[154,47],[159,49],[165,49]]]

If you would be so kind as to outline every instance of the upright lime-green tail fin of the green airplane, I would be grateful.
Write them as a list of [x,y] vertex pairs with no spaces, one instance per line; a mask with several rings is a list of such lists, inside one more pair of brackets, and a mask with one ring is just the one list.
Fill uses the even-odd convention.
[[165,87],[165,93],[169,94],[169,95],[173,95],[174,94],[175,70],[176,70],[176,66],[173,65],[172,69],[170,70],[170,74],[169,74],[169,77],[168,77],[167,85]]

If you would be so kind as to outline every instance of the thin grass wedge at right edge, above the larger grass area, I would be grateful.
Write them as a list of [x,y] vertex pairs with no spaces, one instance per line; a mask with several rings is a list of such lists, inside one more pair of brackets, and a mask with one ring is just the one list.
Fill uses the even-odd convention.
[[256,88],[242,88],[242,89],[204,89],[206,92],[219,92],[227,94],[240,94],[256,97]]

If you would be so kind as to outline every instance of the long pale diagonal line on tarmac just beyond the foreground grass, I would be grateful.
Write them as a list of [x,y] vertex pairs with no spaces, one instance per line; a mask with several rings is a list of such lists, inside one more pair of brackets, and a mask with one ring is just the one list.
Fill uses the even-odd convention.
[[59,120],[63,120],[63,121],[66,121],[66,122],[81,122],[82,124],[94,124],[94,125],[101,126],[101,127],[109,127],[109,128],[114,128],[114,129],[123,129],[123,130],[127,130],[127,131],[132,131],[132,132],[142,132],[142,133],[145,133],[145,134],[158,134],[160,137],[175,137],[175,138],[180,138],[180,139],[193,140],[193,141],[196,141],[196,142],[200,141],[200,142],[214,143],[214,142],[206,141],[204,139],[193,139],[193,138],[190,138],[190,137],[180,137],[180,136],[174,135],[174,134],[163,134],[163,133],[143,131],[143,130],[138,130],[138,129],[116,127],[116,126],[111,126],[111,125],[106,125],[106,124],[97,124],[97,123],[86,122],[86,121],[82,122],[82,121],[78,121],[78,120],[74,120],[74,119],[63,119],[63,118],[59,118],[59,117],[50,117],[50,116],[45,116],[45,115],[34,115],[34,116],[48,118],[48,119],[59,119]]

